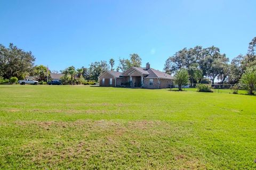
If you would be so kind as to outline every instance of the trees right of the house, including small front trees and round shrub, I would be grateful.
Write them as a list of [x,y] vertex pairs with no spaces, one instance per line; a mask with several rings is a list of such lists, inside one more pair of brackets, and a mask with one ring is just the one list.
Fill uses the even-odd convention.
[[[183,48],[169,57],[164,66],[166,73],[174,74],[174,83],[179,90],[182,85],[211,82],[218,79],[220,84],[233,84],[237,93],[239,87],[254,94],[256,90],[256,37],[249,43],[246,55],[238,55],[229,63],[229,58],[217,47]],[[198,91],[211,92],[209,86],[197,84]]]

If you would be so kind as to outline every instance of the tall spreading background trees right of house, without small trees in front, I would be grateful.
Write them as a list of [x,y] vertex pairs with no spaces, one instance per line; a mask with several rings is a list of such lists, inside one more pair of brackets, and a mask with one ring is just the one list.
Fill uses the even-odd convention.
[[249,43],[246,55],[238,55],[229,63],[226,54],[221,54],[218,47],[196,46],[183,48],[169,57],[164,65],[164,71],[175,74],[180,69],[186,69],[190,84],[201,81],[215,80],[219,83],[237,84],[245,71],[256,64],[256,37]]

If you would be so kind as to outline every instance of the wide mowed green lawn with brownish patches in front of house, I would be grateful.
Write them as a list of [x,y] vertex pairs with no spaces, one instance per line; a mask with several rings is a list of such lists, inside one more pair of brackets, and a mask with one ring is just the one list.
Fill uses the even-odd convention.
[[229,92],[0,86],[0,168],[255,169],[256,96]]

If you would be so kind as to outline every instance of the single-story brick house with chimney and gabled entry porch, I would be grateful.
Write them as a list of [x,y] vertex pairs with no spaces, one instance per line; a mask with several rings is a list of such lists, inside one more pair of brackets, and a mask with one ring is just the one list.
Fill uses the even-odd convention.
[[146,89],[170,88],[174,78],[170,74],[150,68],[130,67],[124,72],[105,71],[99,75],[100,86]]

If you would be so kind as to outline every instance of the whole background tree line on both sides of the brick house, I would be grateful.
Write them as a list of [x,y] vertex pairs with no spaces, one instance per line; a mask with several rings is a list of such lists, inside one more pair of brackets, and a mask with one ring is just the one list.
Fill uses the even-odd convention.
[[[0,80],[14,81],[15,78],[24,79],[27,76],[33,76],[38,81],[45,81],[47,74],[49,76],[50,73],[58,73],[58,71],[48,70],[44,65],[35,65],[35,60],[31,52],[25,52],[13,44],[9,47],[0,44]],[[167,58],[163,70],[169,74],[177,74],[181,69],[185,69],[192,86],[204,82],[214,84],[215,80],[221,84],[237,84],[241,82],[244,73],[256,70],[255,65],[256,37],[249,43],[247,54],[238,55],[231,62],[226,54],[220,53],[218,47],[196,46],[183,48]],[[83,66],[76,69],[74,66],[69,66],[60,73],[65,74],[62,81],[66,84],[81,84],[85,80],[97,81],[99,75],[106,70],[124,72],[132,66],[141,67],[141,57],[138,54],[130,54],[128,58],[120,57],[116,69],[115,60],[110,58],[109,62],[97,61],[91,63],[89,67]]]

